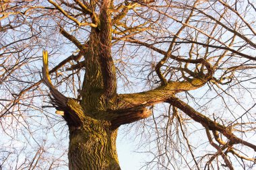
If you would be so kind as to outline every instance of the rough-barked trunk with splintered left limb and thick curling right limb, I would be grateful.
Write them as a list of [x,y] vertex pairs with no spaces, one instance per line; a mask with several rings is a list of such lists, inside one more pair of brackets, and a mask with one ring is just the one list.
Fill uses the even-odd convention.
[[[86,69],[86,73],[81,89],[82,100],[65,97],[55,89],[49,77],[46,52],[43,55],[44,83],[53,95],[53,105],[64,112],[63,118],[69,126],[69,169],[120,169],[116,150],[117,128],[122,124],[148,118],[152,114],[148,106],[164,102],[175,93],[202,87],[212,76],[212,67],[203,59],[175,58],[203,64],[208,73],[182,82],[166,82],[156,89],[142,93],[118,95],[116,70],[111,56],[111,1],[100,1],[99,15],[94,12],[95,4],[92,3],[89,9],[82,1],[76,3],[84,13],[90,14],[94,22],[89,41],[86,44],[80,43],[63,28],[60,33],[73,42],[79,48],[81,56],[84,56],[82,67]],[[58,8],[57,4],[55,6]],[[114,22],[117,20],[114,19]]]

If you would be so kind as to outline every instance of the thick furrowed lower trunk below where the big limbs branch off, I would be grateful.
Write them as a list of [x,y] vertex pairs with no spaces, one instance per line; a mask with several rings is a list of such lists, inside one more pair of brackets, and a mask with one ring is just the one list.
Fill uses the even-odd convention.
[[116,149],[117,129],[110,123],[89,118],[83,126],[69,126],[69,169],[120,169]]

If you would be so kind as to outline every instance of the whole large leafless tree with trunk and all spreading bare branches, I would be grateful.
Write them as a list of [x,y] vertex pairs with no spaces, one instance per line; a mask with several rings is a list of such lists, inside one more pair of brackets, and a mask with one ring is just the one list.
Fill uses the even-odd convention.
[[[179,169],[179,160],[187,169],[255,166],[253,2],[3,1],[1,10],[1,31],[20,32],[2,34],[3,130],[20,123],[15,114],[44,113],[36,97],[49,97],[69,129],[69,169],[120,169],[117,130],[138,120],[155,130],[149,169]],[[51,52],[43,51],[41,79],[34,65],[45,48]],[[62,50],[73,54],[49,71],[49,59]],[[124,93],[127,87],[137,89]],[[32,126],[32,116],[23,119]],[[193,148],[202,128],[215,149],[203,154]]]

